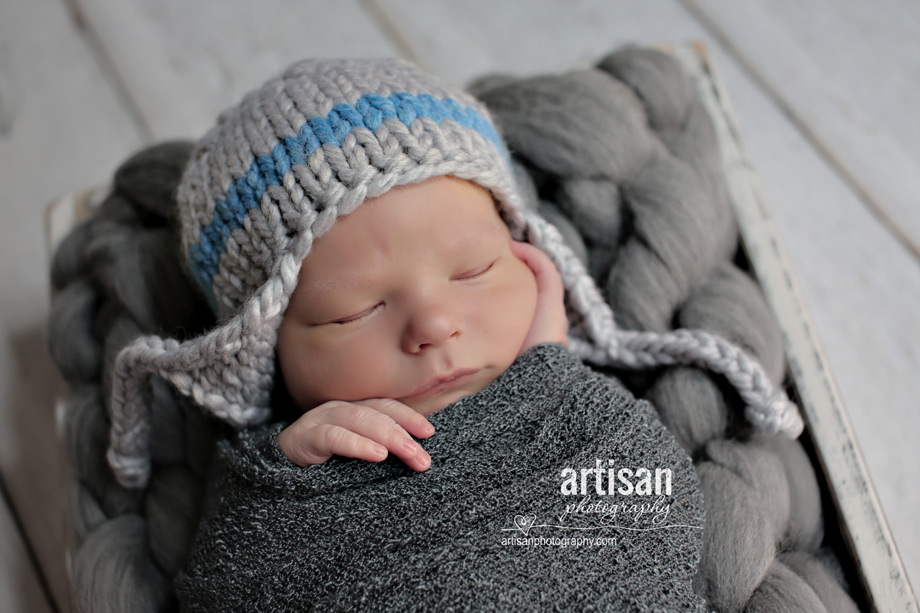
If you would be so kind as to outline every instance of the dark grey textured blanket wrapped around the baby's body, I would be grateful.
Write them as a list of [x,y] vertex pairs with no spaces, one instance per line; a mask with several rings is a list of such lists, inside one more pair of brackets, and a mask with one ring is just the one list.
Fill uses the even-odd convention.
[[703,610],[702,496],[646,401],[546,344],[430,421],[423,473],[222,442],[182,610]]

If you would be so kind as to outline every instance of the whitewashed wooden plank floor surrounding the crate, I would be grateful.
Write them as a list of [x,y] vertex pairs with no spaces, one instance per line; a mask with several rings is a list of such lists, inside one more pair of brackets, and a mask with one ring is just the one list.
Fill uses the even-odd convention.
[[0,610],[66,610],[48,201],[199,136],[306,56],[456,82],[703,41],[730,92],[908,574],[920,582],[920,2],[0,0]]

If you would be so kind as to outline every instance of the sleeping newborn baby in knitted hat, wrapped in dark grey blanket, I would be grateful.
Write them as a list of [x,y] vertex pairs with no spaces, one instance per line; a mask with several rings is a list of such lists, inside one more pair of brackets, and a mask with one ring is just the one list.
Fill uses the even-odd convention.
[[[299,62],[221,114],[178,202],[219,323],[119,354],[108,460],[146,484],[150,373],[236,427],[183,610],[704,610],[690,458],[583,360],[758,367],[618,330],[475,99],[401,61]],[[794,410],[745,381],[767,422]]]

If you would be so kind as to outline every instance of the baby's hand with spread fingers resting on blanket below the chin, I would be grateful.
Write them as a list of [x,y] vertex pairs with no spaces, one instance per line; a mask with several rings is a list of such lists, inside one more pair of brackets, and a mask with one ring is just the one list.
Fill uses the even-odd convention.
[[427,470],[431,457],[409,433],[428,438],[434,426],[412,408],[389,398],[331,400],[282,430],[278,446],[298,466],[322,464],[333,455],[380,462],[393,453],[411,468]]

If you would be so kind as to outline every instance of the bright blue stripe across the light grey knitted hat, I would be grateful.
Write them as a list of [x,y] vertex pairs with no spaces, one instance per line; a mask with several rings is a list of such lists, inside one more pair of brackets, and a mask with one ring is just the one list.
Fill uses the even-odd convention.
[[244,177],[233,181],[227,197],[217,201],[213,221],[201,228],[198,242],[189,249],[189,264],[198,282],[207,290],[212,306],[215,304],[211,283],[217,274],[220,257],[226,251],[230,234],[243,226],[246,214],[258,206],[270,185],[280,185],[281,178],[292,166],[305,164],[306,159],[323,144],[341,147],[355,128],[376,130],[387,119],[399,119],[410,126],[418,117],[441,123],[452,119],[461,126],[472,128],[492,141],[499,152],[508,157],[505,145],[495,127],[475,109],[453,98],[439,100],[430,94],[416,96],[406,92],[365,94],[354,105],[339,104],[326,117],[307,121],[296,137],[287,137],[272,148],[270,154],[260,155],[249,166]]

